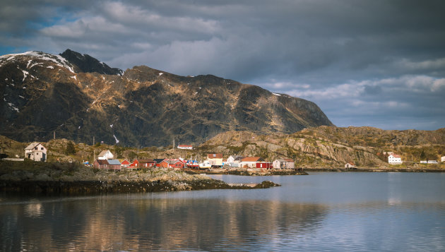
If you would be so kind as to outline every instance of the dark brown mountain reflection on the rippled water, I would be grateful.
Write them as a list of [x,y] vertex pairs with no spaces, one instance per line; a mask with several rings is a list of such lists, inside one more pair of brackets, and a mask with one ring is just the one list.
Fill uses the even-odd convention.
[[320,205],[261,200],[98,197],[41,203],[36,218],[26,214],[35,205],[2,205],[1,251],[236,250],[305,236],[326,215]]

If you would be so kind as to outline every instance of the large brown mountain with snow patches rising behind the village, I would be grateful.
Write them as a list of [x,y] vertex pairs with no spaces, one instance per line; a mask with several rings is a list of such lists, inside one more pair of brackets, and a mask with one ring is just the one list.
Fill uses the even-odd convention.
[[313,102],[216,76],[148,66],[124,73],[66,50],[0,56],[0,135],[119,145],[198,144],[225,131],[332,126]]

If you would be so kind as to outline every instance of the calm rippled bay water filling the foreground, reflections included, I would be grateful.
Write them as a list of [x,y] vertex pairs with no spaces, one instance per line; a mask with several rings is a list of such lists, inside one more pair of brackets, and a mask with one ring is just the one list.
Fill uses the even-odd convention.
[[283,186],[0,194],[0,251],[445,251],[445,174],[213,177]]

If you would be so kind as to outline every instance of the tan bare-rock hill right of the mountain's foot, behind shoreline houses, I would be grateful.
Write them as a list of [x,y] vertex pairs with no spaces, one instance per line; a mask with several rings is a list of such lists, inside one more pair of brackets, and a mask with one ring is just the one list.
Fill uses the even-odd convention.
[[411,161],[440,160],[445,155],[445,128],[437,131],[385,131],[371,127],[338,128],[320,126],[292,134],[257,135],[225,132],[200,146],[201,152],[261,156],[266,160],[289,157],[300,167],[343,167],[353,162],[360,167],[387,166],[384,151]]

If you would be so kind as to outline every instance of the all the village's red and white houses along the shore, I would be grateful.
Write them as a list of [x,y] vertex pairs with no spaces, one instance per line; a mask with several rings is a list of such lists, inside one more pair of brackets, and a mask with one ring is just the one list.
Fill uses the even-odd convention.
[[[193,150],[192,145],[177,145],[179,150]],[[388,164],[403,164],[401,155],[394,152],[382,152]],[[25,158],[34,161],[47,162],[47,148],[42,143],[31,143],[25,148]],[[23,161],[20,158],[6,158],[4,160]],[[445,156],[441,157],[441,163],[445,162]],[[437,160],[421,160],[420,164],[438,164]],[[230,155],[223,157],[221,153],[208,153],[206,158],[196,160],[190,157],[188,160],[183,157],[176,158],[135,158],[133,160],[117,159],[110,150],[102,152],[94,158],[93,162],[83,161],[83,164],[94,167],[95,169],[107,169],[112,171],[137,170],[147,168],[172,168],[172,169],[296,169],[295,160],[289,158],[277,158],[275,160],[265,160],[263,157],[243,157],[240,155]],[[345,169],[357,169],[353,162],[347,162]],[[297,168],[298,169],[298,168]]]

